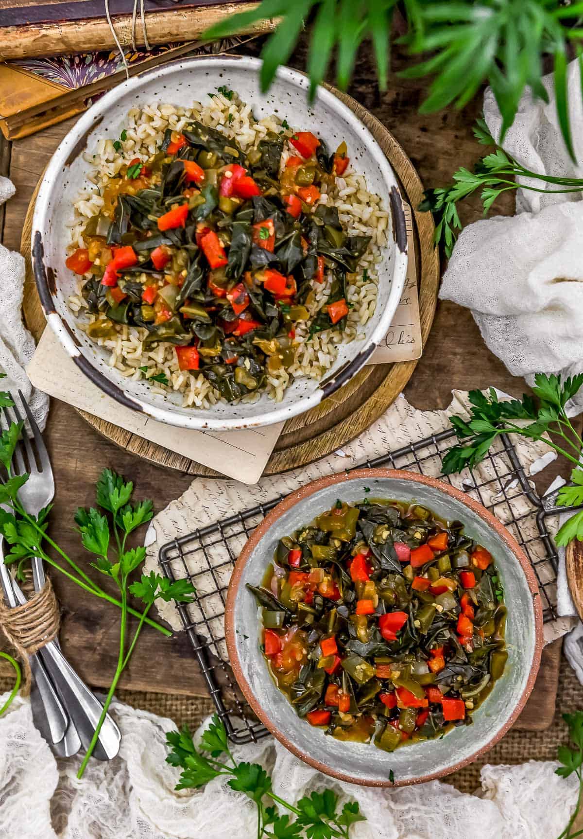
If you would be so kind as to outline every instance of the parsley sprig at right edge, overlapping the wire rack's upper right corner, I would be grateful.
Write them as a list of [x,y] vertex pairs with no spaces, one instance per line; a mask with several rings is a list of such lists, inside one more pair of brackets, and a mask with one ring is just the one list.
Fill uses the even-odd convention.
[[[490,388],[487,395],[481,390],[471,390],[468,394],[470,420],[451,417],[455,434],[463,442],[445,455],[443,474],[476,466],[499,435],[518,434],[531,440],[544,440],[554,451],[575,463],[571,472],[573,486],[560,488],[557,504],[560,507],[583,506],[583,469],[580,468],[583,440],[573,428],[565,408],[582,384],[583,373],[566,378],[565,382],[561,382],[560,376],[537,373],[533,392],[538,402],[527,394],[523,399],[499,401],[494,388]],[[557,545],[568,545],[572,539],[583,541],[583,510],[571,516],[555,537]]]

